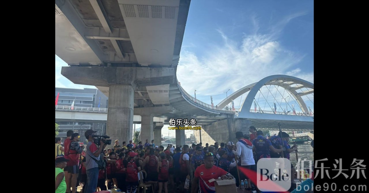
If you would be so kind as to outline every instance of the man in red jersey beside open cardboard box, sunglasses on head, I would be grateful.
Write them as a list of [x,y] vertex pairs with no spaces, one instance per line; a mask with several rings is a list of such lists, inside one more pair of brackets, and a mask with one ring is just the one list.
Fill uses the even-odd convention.
[[205,154],[204,164],[196,168],[195,175],[192,181],[191,193],[197,193],[199,188],[200,193],[215,193],[215,184],[209,182],[210,179],[232,179],[233,176],[214,165],[214,155],[212,152]]

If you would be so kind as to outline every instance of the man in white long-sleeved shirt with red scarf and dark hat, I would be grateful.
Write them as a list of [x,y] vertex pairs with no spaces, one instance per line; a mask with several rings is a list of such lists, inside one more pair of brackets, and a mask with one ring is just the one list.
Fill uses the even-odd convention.
[[[254,154],[252,153],[253,145],[252,145],[251,141],[244,138],[244,134],[242,133],[242,131],[236,132],[236,138],[238,139],[238,142],[236,143],[236,148],[233,150],[233,153],[240,157],[241,167],[256,171]],[[240,177],[241,177],[241,179],[246,178],[247,183],[248,183],[248,187],[251,187],[250,178],[248,178],[242,172],[240,172]],[[245,177],[245,178],[243,178],[243,177]]]

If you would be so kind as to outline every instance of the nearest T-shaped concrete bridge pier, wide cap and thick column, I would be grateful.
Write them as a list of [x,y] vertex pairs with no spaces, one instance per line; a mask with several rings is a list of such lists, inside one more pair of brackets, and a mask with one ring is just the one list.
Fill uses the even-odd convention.
[[[109,87],[106,134],[112,141],[118,139],[128,143],[133,132],[135,88],[171,83],[175,70],[164,67],[64,66],[61,74],[75,84]],[[149,129],[152,127],[151,118]]]

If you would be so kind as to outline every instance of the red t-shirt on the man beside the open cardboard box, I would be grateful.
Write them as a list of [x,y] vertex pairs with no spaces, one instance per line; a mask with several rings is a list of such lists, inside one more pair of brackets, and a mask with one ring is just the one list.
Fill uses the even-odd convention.
[[213,165],[212,168],[207,169],[205,165],[200,165],[196,168],[195,177],[199,178],[200,193],[215,193],[214,182],[209,182],[210,179],[218,179],[218,177],[227,174],[227,172]]

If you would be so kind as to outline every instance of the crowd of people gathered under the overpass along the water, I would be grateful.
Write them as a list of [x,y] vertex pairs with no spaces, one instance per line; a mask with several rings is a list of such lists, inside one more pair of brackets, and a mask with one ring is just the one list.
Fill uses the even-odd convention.
[[[132,140],[128,144],[115,140],[113,148],[108,149],[103,140],[99,146],[94,143],[92,135],[96,131],[85,132],[86,147],[78,142],[78,133],[68,131],[64,147],[61,139],[55,138],[55,193],[76,193],[78,185],[83,186],[83,193],[113,188],[136,193],[139,176],[145,185],[152,186],[146,192],[214,193],[214,182],[209,180],[218,178],[235,178],[238,187],[239,182],[246,179],[246,189],[259,192],[250,180],[251,174],[242,172],[242,168],[256,172],[256,163],[261,158],[289,159],[290,152],[296,151],[297,146],[288,144],[289,135],[285,132],[265,138],[263,132],[253,126],[249,131],[245,135],[236,132],[236,143],[229,141],[220,146],[215,142],[191,147],[168,144],[165,148],[146,139],[145,144],[139,141],[138,145],[132,144]],[[283,159],[279,164],[283,167]],[[287,169],[294,172],[293,166]]]

